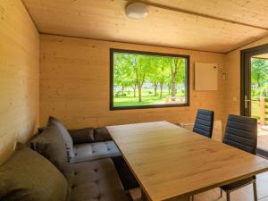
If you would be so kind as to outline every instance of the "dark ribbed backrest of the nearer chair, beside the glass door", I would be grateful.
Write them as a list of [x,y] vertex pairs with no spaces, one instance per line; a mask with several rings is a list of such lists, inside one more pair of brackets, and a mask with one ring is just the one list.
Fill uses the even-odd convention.
[[245,116],[228,115],[223,143],[255,155],[257,120]]

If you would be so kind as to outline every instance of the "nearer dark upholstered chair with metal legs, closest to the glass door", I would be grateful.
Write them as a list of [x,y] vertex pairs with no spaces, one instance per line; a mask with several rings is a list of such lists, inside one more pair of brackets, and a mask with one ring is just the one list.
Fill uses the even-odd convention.
[[[227,120],[223,143],[255,155],[257,145],[257,121],[249,117],[230,114]],[[247,186],[248,184],[253,184],[254,200],[256,201],[255,176],[221,187],[221,196],[222,190],[224,190],[226,192],[227,201],[230,201],[231,191]]]

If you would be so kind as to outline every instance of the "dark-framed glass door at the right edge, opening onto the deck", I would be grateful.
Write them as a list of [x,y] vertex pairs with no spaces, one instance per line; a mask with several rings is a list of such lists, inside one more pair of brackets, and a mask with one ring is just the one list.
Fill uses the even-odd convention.
[[268,157],[268,46],[241,52],[241,114],[257,119],[257,151]]

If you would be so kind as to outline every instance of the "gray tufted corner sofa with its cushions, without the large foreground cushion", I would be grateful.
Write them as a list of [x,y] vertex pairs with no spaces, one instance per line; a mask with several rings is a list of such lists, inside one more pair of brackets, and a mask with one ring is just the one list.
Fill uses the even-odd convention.
[[50,117],[29,142],[63,173],[71,201],[127,201],[138,182],[105,128],[66,130]]

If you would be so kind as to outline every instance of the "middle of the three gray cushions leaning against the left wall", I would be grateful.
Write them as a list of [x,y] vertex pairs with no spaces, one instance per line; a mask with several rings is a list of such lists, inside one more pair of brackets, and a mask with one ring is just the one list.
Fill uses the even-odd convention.
[[60,130],[56,126],[47,126],[37,138],[30,141],[30,147],[44,155],[61,172],[64,172],[68,163],[66,147]]

